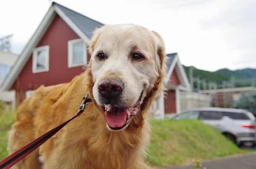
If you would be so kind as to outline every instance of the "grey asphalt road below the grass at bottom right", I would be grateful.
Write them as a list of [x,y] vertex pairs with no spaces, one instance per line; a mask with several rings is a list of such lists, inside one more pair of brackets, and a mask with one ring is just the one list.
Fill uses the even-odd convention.
[[[256,169],[256,152],[235,155],[211,161],[202,161],[202,169]],[[166,169],[193,169],[188,166],[177,166]]]

